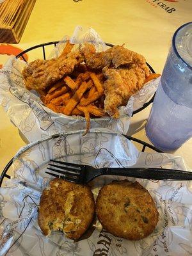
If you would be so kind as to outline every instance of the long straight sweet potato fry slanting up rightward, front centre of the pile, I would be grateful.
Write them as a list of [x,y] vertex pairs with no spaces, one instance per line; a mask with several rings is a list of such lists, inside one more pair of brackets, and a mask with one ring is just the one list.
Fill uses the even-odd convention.
[[63,114],[70,115],[72,113],[74,108],[76,108],[77,104],[83,97],[83,93],[86,92],[87,89],[88,89],[88,83],[83,82],[81,84],[81,86],[79,87],[79,89],[77,89],[77,91],[74,93],[72,98],[68,101],[68,103],[65,106],[65,109],[63,111]]

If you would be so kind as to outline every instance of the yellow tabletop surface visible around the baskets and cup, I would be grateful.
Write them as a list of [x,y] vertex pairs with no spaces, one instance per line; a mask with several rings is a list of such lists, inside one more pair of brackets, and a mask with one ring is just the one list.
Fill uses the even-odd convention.
[[[172,35],[179,26],[191,21],[192,10],[191,1],[163,3],[158,0],[37,0],[20,43],[14,46],[28,49],[72,35],[77,25],[90,26],[105,42],[125,44],[132,51],[140,52],[154,70],[161,73]],[[0,64],[3,64],[9,57],[1,55],[1,46]],[[132,117],[129,135],[149,142],[144,127],[150,108],[148,106]],[[26,143],[2,107],[0,120],[1,173],[6,163]],[[192,168],[191,152],[192,140],[189,140],[172,153],[184,157],[186,164]]]

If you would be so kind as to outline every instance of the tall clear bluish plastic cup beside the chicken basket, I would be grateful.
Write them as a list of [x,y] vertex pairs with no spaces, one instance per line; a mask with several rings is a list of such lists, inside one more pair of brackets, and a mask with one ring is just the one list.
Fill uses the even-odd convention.
[[179,148],[192,136],[192,22],[173,35],[145,131],[164,151]]

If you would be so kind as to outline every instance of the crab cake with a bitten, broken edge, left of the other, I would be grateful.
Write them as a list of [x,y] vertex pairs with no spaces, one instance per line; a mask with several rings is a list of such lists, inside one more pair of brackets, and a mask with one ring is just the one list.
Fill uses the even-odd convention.
[[53,179],[40,198],[38,225],[45,236],[61,230],[75,240],[88,229],[94,214],[95,201],[88,186]]

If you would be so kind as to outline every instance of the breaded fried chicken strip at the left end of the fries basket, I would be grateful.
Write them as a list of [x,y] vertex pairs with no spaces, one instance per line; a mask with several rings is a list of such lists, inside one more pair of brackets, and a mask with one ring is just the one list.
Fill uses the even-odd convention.
[[66,56],[61,54],[51,60],[35,60],[24,68],[26,87],[35,90],[45,90],[47,86],[56,83],[63,76],[73,72],[74,68],[83,61],[81,52],[69,52]]

